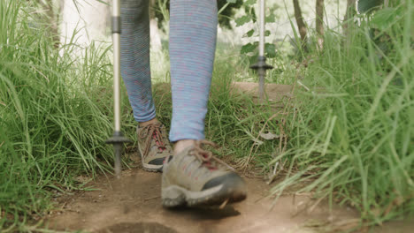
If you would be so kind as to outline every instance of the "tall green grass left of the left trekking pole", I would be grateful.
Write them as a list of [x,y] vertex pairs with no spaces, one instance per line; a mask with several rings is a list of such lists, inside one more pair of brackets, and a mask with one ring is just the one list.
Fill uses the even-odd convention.
[[[106,50],[71,56],[25,1],[0,1],[0,231],[50,209],[52,190],[111,167],[111,64]],[[33,25],[36,25],[35,27]],[[108,48],[109,49],[109,48]]]

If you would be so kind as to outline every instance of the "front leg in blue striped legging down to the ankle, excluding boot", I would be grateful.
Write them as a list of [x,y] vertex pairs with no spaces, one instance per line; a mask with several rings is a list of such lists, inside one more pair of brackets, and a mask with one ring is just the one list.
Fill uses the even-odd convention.
[[170,140],[178,141],[176,148],[186,141],[183,139],[204,139],[217,24],[215,0],[172,0],[170,3],[173,92]]

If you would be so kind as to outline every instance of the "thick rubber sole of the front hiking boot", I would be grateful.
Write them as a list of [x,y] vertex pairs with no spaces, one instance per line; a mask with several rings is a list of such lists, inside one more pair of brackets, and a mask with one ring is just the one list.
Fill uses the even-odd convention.
[[219,206],[225,201],[231,204],[242,201],[246,197],[247,192],[244,187],[225,187],[223,184],[200,192],[170,185],[163,188],[161,192],[163,207],[168,208]]

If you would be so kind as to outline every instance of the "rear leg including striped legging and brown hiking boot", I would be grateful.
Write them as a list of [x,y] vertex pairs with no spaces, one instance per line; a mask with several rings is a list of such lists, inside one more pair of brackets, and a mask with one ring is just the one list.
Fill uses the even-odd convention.
[[134,111],[142,167],[160,171],[172,154],[165,126],[156,118],[149,68],[149,0],[121,1],[121,75]]

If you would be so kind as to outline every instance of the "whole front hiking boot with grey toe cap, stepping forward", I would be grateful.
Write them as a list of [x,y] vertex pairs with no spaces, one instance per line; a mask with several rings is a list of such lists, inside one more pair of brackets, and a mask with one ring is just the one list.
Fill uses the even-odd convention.
[[165,160],[161,199],[164,207],[197,207],[226,205],[246,199],[247,188],[225,162],[212,156],[202,145],[196,145]]

